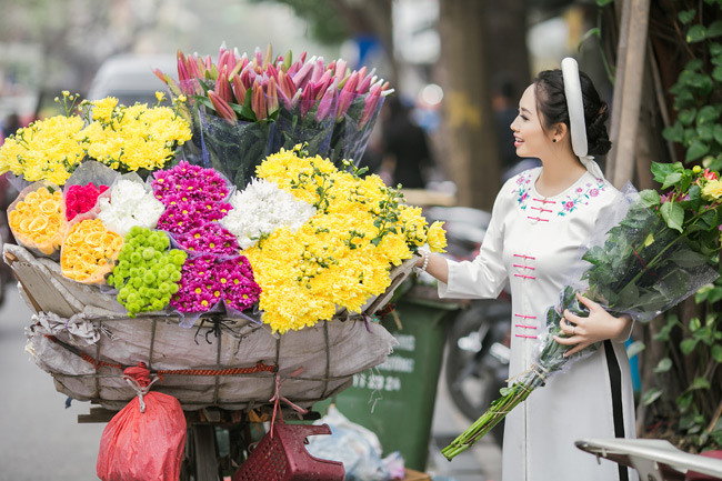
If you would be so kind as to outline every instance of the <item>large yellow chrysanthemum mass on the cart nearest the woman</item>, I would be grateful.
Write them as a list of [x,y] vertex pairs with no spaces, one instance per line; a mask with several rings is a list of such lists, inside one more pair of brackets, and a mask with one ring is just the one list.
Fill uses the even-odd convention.
[[429,240],[434,251],[445,247],[441,224],[429,227],[377,176],[340,171],[298,148],[270,156],[257,173],[317,211],[298,230],[277,228],[243,251],[261,287],[263,322],[274,331],[330,320],[339,308],[360,312],[389,287],[392,265]]

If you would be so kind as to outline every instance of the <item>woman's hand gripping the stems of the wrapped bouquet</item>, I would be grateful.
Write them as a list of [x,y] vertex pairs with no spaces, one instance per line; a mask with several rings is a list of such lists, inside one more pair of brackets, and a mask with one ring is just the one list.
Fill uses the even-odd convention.
[[574,315],[569,309],[564,311],[564,315],[559,325],[570,337],[560,338],[559,335],[554,335],[554,340],[560,344],[573,345],[572,349],[564,352],[564,357],[570,357],[595,342],[619,339],[628,330],[630,322],[632,322],[626,317],[613,317],[600,304],[586,299],[579,292],[576,293],[576,299],[586,305],[589,317],[582,318]]

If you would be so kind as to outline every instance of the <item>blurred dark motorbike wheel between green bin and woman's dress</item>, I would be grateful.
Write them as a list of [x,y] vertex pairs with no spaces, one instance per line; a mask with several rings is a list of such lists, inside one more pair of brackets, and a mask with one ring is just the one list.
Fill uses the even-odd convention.
[[[481,417],[505,387],[508,364],[492,357],[494,342],[502,342],[509,325],[509,307],[494,305],[498,301],[479,302],[461,312],[454,321],[447,349],[445,382],[455,407],[470,421]],[[501,311],[490,318],[490,310]],[[490,309],[492,308],[492,309]],[[504,330],[499,325],[503,322]],[[503,374],[500,375],[500,372]],[[491,430],[492,439],[501,447],[504,423]]]

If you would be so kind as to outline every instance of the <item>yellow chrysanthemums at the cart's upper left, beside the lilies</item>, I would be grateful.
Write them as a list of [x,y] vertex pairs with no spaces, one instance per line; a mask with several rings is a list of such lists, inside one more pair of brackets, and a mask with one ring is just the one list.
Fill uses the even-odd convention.
[[[158,96],[161,100],[163,94]],[[64,114],[33,122],[6,139],[0,173],[63,186],[86,160],[121,172],[146,172],[174,159],[176,149],[191,138],[190,126],[177,114],[178,99],[173,109],[126,107],[112,97],[78,104],[78,96],[68,91],[56,100]]]

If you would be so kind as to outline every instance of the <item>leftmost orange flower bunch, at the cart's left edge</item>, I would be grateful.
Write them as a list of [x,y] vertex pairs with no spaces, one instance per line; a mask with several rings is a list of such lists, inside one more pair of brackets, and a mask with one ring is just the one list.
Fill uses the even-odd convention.
[[53,193],[41,187],[28,193],[8,214],[8,223],[16,239],[28,248],[50,255],[62,243],[66,223],[62,213],[62,192]]

